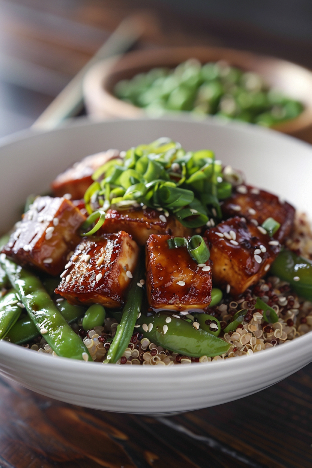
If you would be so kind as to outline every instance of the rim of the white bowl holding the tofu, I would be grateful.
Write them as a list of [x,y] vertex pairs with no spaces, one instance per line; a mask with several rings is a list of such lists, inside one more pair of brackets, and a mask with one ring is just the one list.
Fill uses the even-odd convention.
[[[3,137],[0,139],[0,151],[2,148],[5,149],[6,146],[10,146],[12,144],[14,144],[15,142],[22,142],[23,140],[28,140],[28,139],[31,139],[31,138],[40,138],[40,136],[44,135],[44,134],[53,134],[53,133],[59,133],[59,132],[66,132],[67,129],[71,129],[73,127],[80,127],[80,126],[83,126],[83,127],[89,127],[89,126],[97,126],[97,125],[105,125],[106,123],[113,123],[113,124],[123,124],[125,122],[137,122],[138,124],[141,122],[141,121],[145,121],[145,120],[149,120],[149,121],[159,121],[159,120],[164,120],[164,121],[168,121],[168,122],[172,122],[172,121],[181,121],[181,122],[189,122],[191,124],[195,124],[196,121],[192,120],[189,118],[189,116],[179,116],[178,118],[174,118],[174,117],[168,117],[168,116],[165,116],[165,117],[161,117],[161,118],[154,118],[154,119],[151,119],[151,118],[148,118],[146,116],[144,117],[141,117],[141,118],[137,118],[137,119],[132,119],[131,121],[129,119],[107,119],[105,121],[102,121],[102,122],[92,122],[90,119],[88,119],[87,117],[81,117],[80,119],[73,119],[71,120],[70,122],[67,122],[63,125],[61,125],[60,127],[56,128],[56,129],[52,129],[52,130],[48,130],[48,131],[38,131],[38,130],[33,130],[33,129],[28,129],[28,130],[23,130],[21,132],[16,132],[12,135],[8,135],[7,137]],[[301,140],[297,140],[297,139],[294,139],[293,137],[291,137],[290,135],[287,135],[287,134],[282,134],[282,133],[279,133],[279,132],[276,132],[272,129],[268,129],[268,128],[265,128],[265,127],[261,127],[261,126],[257,126],[257,125],[253,125],[253,124],[248,124],[248,123],[244,123],[244,122],[235,122],[235,121],[228,121],[228,122],[220,122],[219,119],[216,119],[215,117],[213,116],[209,116],[208,119],[205,119],[204,121],[201,121],[199,122],[199,124],[208,124],[208,125],[212,125],[212,126],[230,126],[230,127],[233,127],[233,129],[235,130],[236,128],[239,128],[239,130],[241,132],[248,132],[248,133],[264,133],[264,134],[267,134],[267,135],[270,135],[270,136],[273,136],[274,138],[277,138],[277,139],[290,139],[290,141],[293,141],[293,142],[296,142],[297,145],[299,146],[305,146],[306,148],[308,148],[310,150],[310,152],[312,153],[312,146],[308,143],[306,143],[305,141],[301,141]],[[239,127],[237,127],[239,126]],[[291,351],[291,352],[288,352],[287,354],[293,354],[295,351],[298,351],[300,349],[304,349],[305,346],[309,345],[309,344],[312,344],[312,332],[308,332],[306,333],[305,335],[303,336],[299,336],[293,340],[291,340],[290,342],[287,343],[287,350]],[[221,373],[223,371],[223,369],[228,369],[228,366],[234,366],[234,367],[230,367],[230,369],[236,369],[237,366],[240,366],[240,367],[244,367],[244,366],[247,366],[247,363],[248,362],[251,362],[251,361],[248,361],[247,358],[252,358],[252,359],[256,359],[256,361],[253,361],[255,364],[258,363],[259,364],[265,364],[268,362],[268,359],[269,357],[271,356],[271,358],[273,357],[276,357],[278,358],[281,353],[282,355],[284,354],[284,351],[283,351],[284,347],[283,346],[277,346],[277,347],[274,347],[274,348],[269,348],[269,349],[266,349],[266,350],[262,350],[262,351],[266,351],[266,352],[256,352],[254,353],[252,356],[239,356],[239,359],[226,359],[226,363],[222,360],[220,360],[220,362],[218,361],[215,361],[213,362],[214,366],[212,366],[214,370],[214,373]],[[281,351],[282,350],[282,351]],[[28,350],[28,351],[32,351],[32,350]],[[270,351],[270,353],[274,353],[274,354],[268,354],[268,351]],[[99,367],[99,365],[102,365],[102,363],[97,363],[97,362],[87,362],[85,363],[84,361],[80,361],[80,360],[77,360],[77,359],[70,359],[70,358],[61,358],[61,357],[58,357],[56,359],[52,359],[52,356],[50,356],[50,360],[49,360],[49,357],[48,357],[48,361],[42,361],[41,359],[46,359],[47,356],[46,355],[43,355],[43,356],[39,356],[39,354],[41,353],[38,353],[36,351],[34,351],[34,353],[29,353],[29,352],[26,352],[25,353],[25,348],[23,348],[22,346],[20,345],[16,345],[14,344],[14,346],[12,347],[12,343],[8,343],[6,342],[5,340],[0,340],[0,360],[1,360],[1,356],[2,355],[7,355],[7,356],[10,356],[11,358],[16,358],[19,362],[23,362],[23,363],[29,363],[29,364],[34,364],[34,365],[40,365],[41,364],[45,364],[45,367],[47,368],[50,368],[50,369],[59,369],[59,370],[74,370],[74,371],[80,371],[80,366],[85,366],[86,364],[88,364],[87,366],[87,369],[90,369],[89,372],[93,372],[92,369],[97,369]],[[268,356],[266,358],[266,356]],[[247,360],[246,360],[247,359]],[[311,360],[312,360],[312,357],[311,357]],[[229,362],[234,362],[236,364],[229,364]],[[221,364],[222,362],[222,364]],[[245,363],[245,364],[244,364]],[[194,364],[194,363],[193,363]],[[207,365],[210,365],[211,362],[207,362],[207,363],[198,363],[200,364],[200,366],[194,366],[194,365],[191,365],[191,366],[186,366],[190,369],[192,369],[192,371],[185,371],[185,370],[181,370],[180,367],[181,366],[174,366],[175,370],[174,370],[174,375],[179,375],[180,372],[183,373],[183,375],[185,375],[185,372],[188,372],[188,373],[196,373],[198,371],[198,369],[207,369]],[[197,363],[196,363],[197,364]],[[91,366],[90,366],[91,365]],[[75,367],[76,366],[76,367]],[[78,367],[77,367],[78,366]],[[119,369],[120,367],[122,368],[127,368],[128,366],[118,366],[118,365],[114,365],[114,366],[103,366],[105,369],[110,369],[109,371],[102,371],[104,372],[104,376],[105,376],[105,373],[113,373],[114,375],[116,375],[116,373],[120,373],[120,372],[125,372],[125,373],[131,373],[132,375],[133,374],[133,369],[132,370],[125,370],[125,371],[120,371],[120,370],[114,370],[114,369]],[[129,366],[130,367],[130,366]],[[137,367],[143,367],[143,366],[137,366]],[[147,367],[147,366],[145,366]],[[155,366],[151,366],[151,367],[155,367]],[[162,370],[159,370],[159,371],[156,371],[156,372],[160,372],[160,373],[166,373],[167,372],[167,366],[156,366],[156,367],[160,367]],[[173,366],[170,366],[170,368],[172,369]],[[184,368],[184,366],[183,366]],[[179,370],[180,369],[180,370]],[[154,374],[154,370],[150,369],[149,371],[138,371],[138,372],[148,372],[148,373],[151,373],[151,376],[152,375],[155,375]],[[109,375],[109,374],[107,374]],[[120,374],[117,374],[117,375],[120,375]],[[143,374],[140,374],[140,375],[143,375]],[[164,374],[165,375],[165,374]]]

